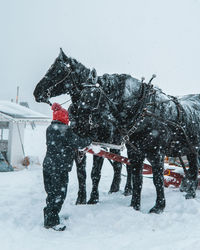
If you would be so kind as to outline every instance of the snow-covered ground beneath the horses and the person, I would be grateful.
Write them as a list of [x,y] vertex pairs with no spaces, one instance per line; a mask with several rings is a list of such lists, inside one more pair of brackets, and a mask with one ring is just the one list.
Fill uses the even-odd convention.
[[[25,149],[28,155],[45,153],[45,127],[27,129]],[[87,158],[87,194],[91,190],[92,157]],[[125,174],[125,168],[123,169]],[[121,191],[108,194],[112,167],[105,160],[100,182],[98,205],[76,206],[77,178],[75,166],[70,173],[67,199],[61,217],[68,217],[67,230],[55,232],[43,228],[46,194],[42,168],[0,173],[0,249],[1,250],[199,250],[200,191],[197,198],[185,200],[178,189],[166,188],[167,206],[160,215],[148,214],[155,202],[152,179],[144,178],[142,209],[129,207],[131,197]]]

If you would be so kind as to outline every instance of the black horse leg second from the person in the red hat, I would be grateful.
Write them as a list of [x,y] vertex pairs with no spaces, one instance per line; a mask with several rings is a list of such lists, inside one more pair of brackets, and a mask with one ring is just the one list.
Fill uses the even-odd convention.
[[101,168],[103,165],[103,158],[99,156],[93,156],[93,168],[91,172],[92,178],[92,192],[90,194],[90,199],[87,204],[96,204],[99,202],[99,181],[101,178]]

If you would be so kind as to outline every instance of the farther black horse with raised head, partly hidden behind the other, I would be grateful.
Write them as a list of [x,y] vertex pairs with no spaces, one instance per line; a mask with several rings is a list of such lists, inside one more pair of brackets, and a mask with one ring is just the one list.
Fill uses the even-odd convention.
[[[79,101],[83,90],[82,83],[89,81],[89,78],[91,81],[94,81],[93,77],[93,71],[87,69],[75,59],[67,58],[61,50],[54,64],[37,85],[34,91],[35,99],[38,102],[47,102],[50,104],[49,98],[58,96],[64,91],[64,93],[71,96],[72,104],[70,105],[68,111],[74,132],[79,134],[81,137],[90,136],[93,141],[119,144],[121,141],[121,135],[119,135],[112,124],[100,119],[98,114],[98,125],[93,125],[92,120],[88,123],[88,115],[85,116],[85,112],[82,112],[79,107]],[[88,131],[90,131],[89,134]],[[120,150],[118,149],[110,149],[110,151],[115,154],[120,154]],[[84,163],[81,164],[78,160],[79,159],[76,159],[79,191],[76,204],[85,204],[86,170],[83,168]],[[85,161],[85,159],[83,159],[83,161]],[[95,204],[99,201],[98,186],[101,178],[103,161],[104,159],[102,157],[93,157],[93,167],[91,172],[92,191],[90,199],[87,202],[88,204]],[[114,176],[109,191],[110,193],[119,191],[122,169],[122,164],[119,162],[111,162],[111,164],[113,166]],[[127,167],[127,182],[125,185],[124,195],[130,194],[132,194],[131,168]]]

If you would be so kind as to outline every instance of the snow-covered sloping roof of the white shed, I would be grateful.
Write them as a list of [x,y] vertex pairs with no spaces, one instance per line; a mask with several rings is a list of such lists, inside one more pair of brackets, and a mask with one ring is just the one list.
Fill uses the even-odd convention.
[[50,121],[50,117],[9,101],[0,101],[1,119],[14,121]]

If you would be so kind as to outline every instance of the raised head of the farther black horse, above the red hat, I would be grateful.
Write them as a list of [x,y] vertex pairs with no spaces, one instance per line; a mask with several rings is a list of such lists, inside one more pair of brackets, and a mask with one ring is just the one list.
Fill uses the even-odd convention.
[[35,100],[49,103],[51,97],[61,94],[77,95],[89,74],[89,69],[77,60],[67,57],[60,49],[58,57],[34,90]]

